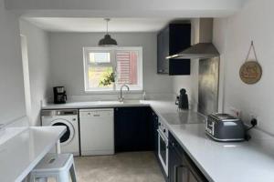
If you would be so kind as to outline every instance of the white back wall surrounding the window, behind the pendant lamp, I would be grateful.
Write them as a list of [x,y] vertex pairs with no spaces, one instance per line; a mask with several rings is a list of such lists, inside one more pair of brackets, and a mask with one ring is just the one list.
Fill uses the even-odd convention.
[[[172,94],[172,76],[157,75],[156,33],[111,34],[121,46],[142,46],[143,88],[147,94]],[[103,34],[50,33],[52,86],[66,86],[69,96],[84,96],[83,46],[97,46]]]

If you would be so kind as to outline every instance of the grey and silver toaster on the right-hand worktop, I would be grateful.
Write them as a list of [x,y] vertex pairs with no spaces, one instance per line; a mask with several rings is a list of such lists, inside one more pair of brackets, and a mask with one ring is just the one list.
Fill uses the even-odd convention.
[[216,141],[243,141],[246,136],[246,127],[235,116],[216,113],[207,116],[205,133]]

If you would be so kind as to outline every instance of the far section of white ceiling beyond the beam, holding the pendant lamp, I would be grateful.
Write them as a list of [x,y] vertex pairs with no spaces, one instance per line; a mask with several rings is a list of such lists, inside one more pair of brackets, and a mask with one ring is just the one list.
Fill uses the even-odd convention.
[[[105,32],[103,18],[28,17],[27,21],[50,32]],[[170,18],[112,18],[110,32],[155,32],[167,25]]]

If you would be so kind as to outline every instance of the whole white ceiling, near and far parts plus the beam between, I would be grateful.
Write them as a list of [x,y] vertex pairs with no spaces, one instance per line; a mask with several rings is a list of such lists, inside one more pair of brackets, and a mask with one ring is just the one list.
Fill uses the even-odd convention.
[[226,17],[247,0],[5,0],[5,7],[52,32],[154,32],[177,17]]

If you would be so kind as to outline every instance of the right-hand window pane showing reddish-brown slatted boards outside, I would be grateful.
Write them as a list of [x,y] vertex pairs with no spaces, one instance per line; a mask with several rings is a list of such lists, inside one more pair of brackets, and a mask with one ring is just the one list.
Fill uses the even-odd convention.
[[136,51],[118,51],[117,60],[117,84],[137,85],[138,72]]

